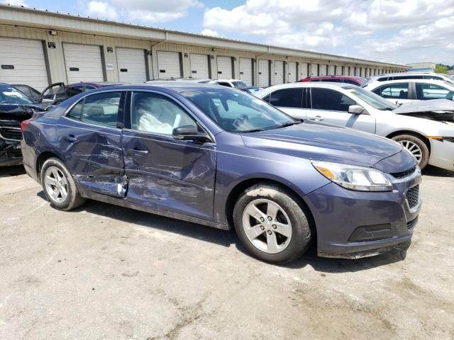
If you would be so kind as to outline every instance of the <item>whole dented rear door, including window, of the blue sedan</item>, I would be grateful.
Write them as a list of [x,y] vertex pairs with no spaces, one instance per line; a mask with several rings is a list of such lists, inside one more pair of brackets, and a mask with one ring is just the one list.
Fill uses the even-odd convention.
[[60,151],[82,190],[126,196],[121,123],[126,91],[101,92],[78,101],[58,121]]

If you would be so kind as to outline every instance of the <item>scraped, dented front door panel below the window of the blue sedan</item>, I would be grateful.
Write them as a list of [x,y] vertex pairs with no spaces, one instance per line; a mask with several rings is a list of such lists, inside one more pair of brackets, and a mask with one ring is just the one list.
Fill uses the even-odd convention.
[[211,220],[216,146],[123,130],[131,202]]

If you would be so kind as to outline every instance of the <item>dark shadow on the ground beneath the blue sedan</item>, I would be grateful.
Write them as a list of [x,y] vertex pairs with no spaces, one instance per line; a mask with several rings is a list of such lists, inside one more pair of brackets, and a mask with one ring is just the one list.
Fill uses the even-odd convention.
[[[43,191],[37,194],[38,197],[43,198],[45,195]],[[115,207],[114,209],[112,207]],[[169,217],[162,217],[154,215],[149,212],[141,212],[130,208],[123,208],[108,203],[102,203],[95,200],[87,200],[87,203],[82,207],[72,210],[70,213],[89,212],[101,217],[110,217],[115,220],[120,220],[127,223],[134,223],[150,229],[159,229],[165,232],[172,232],[184,237],[192,237],[204,242],[218,244],[220,246],[236,246],[236,249],[245,256],[250,256],[245,246],[241,244],[236,232],[234,230],[225,231],[206,227],[204,225],[197,225],[195,223],[184,222],[175,220]],[[379,256],[368,257],[364,259],[348,260],[348,259],[327,259],[318,257],[316,254],[316,246],[312,244],[306,251],[304,256],[297,261],[287,265],[276,265],[267,263],[270,266],[279,266],[289,269],[301,269],[306,266],[311,266],[315,271],[321,273],[345,273],[355,271],[365,271],[370,268],[376,268],[402,261],[404,258],[400,251],[389,251]]]

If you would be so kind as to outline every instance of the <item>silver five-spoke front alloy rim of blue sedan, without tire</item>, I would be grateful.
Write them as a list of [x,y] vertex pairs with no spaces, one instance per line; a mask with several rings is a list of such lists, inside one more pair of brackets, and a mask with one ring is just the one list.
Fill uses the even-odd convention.
[[277,254],[289,246],[292,223],[287,212],[272,200],[260,198],[243,211],[243,228],[249,241],[261,251]]

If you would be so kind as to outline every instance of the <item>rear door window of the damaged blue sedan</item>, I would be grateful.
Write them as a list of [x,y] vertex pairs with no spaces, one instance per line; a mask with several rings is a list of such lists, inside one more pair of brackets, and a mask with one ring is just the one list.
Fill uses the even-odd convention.
[[85,97],[82,121],[116,128],[120,99],[121,92],[104,92]]

